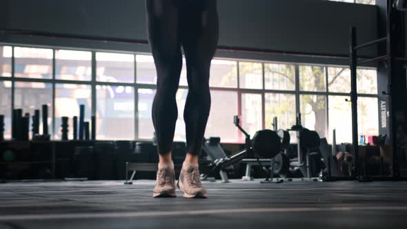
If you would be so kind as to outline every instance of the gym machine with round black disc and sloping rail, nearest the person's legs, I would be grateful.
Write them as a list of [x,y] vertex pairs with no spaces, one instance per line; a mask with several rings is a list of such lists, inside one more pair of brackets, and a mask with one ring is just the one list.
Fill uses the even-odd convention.
[[[225,157],[212,161],[212,163],[208,165],[210,169],[208,170],[208,172],[206,172],[206,174],[201,175],[201,179],[208,178],[210,173],[215,170],[225,171],[228,166],[241,161],[250,153],[257,157],[257,161],[259,162],[261,168],[267,171],[267,169],[261,165],[259,157],[272,160],[272,158],[274,158],[280,152],[281,139],[275,131],[259,130],[256,132],[255,136],[250,139],[250,135],[240,126],[240,120],[238,116],[234,117],[233,123],[235,123],[235,126],[237,126],[237,128],[246,136],[244,150],[237,152],[237,154],[232,155],[231,157]],[[272,167],[273,163],[274,161],[271,162]],[[269,171],[270,179],[272,179],[272,171],[273,168]],[[268,178],[266,179],[266,181],[268,181]]]

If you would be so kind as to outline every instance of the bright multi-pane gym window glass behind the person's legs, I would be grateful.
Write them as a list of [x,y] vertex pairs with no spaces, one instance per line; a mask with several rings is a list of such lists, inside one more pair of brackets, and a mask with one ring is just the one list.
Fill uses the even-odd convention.
[[[0,114],[6,116],[6,138],[10,138],[13,104],[31,114],[48,104],[54,139],[61,137],[61,117],[72,120],[83,104],[86,121],[96,114],[97,139],[152,139],[157,76],[150,54],[0,46],[0,70]],[[290,128],[301,112],[303,126],[328,141],[333,129],[338,143],[351,140],[348,67],[213,59],[210,72],[212,108],[206,137],[244,142],[232,123],[234,115],[241,115],[242,126],[254,135],[272,128],[273,117],[278,117],[278,128]],[[185,141],[185,59],[179,84],[175,141]],[[357,84],[359,135],[377,135],[376,70],[358,69]]]

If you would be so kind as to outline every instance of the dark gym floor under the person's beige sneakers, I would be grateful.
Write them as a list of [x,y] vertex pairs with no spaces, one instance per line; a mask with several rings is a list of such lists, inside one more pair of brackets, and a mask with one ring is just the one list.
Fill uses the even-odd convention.
[[152,199],[155,181],[0,184],[0,228],[406,228],[407,183],[238,181]]

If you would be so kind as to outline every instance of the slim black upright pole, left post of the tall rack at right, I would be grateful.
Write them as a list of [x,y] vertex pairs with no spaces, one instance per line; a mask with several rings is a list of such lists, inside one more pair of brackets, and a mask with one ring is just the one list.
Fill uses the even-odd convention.
[[359,175],[359,169],[357,163],[359,161],[359,143],[357,133],[357,51],[356,46],[356,28],[350,29],[350,44],[349,44],[349,62],[350,62],[350,100],[352,101],[352,143],[353,143],[353,155],[355,157],[355,163],[353,171],[354,176]]

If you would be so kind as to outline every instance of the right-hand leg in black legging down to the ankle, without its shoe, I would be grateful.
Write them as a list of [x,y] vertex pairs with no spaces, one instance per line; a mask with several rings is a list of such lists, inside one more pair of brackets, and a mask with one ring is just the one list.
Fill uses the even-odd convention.
[[203,0],[206,9],[188,14],[189,30],[181,32],[186,57],[188,97],[183,113],[186,123],[188,161],[197,161],[210,112],[210,62],[217,48],[219,22],[217,1]]

